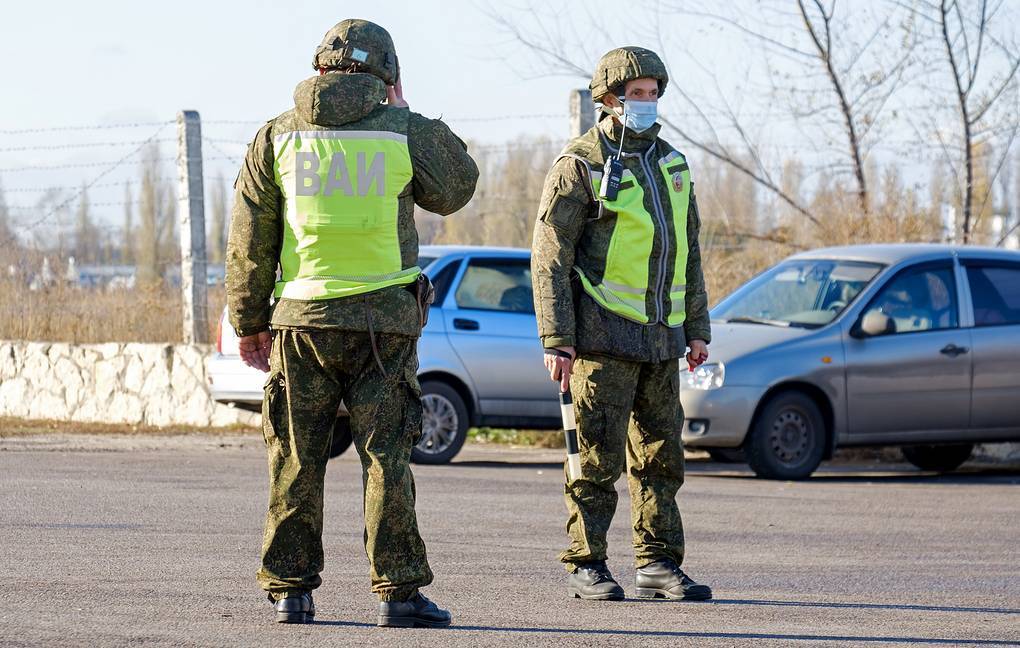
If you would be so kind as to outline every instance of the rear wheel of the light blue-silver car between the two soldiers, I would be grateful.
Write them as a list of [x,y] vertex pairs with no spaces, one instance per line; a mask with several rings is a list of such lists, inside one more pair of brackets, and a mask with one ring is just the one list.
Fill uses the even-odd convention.
[[421,384],[421,441],[411,450],[415,463],[449,463],[467,439],[467,405],[446,383]]

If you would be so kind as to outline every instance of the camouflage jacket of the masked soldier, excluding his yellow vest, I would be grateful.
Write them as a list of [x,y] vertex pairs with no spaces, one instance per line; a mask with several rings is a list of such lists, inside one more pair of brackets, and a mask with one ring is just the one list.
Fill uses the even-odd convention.
[[[614,144],[612,152],[615,152],[621,129],[620,124],[605,115],[588,133],[571,141],[564,153],[582,157],[592,168],[601,170],[611,152],[606,150],[600,133]],[[640,134],[628,130],[623,152],[644,153],[649,147],[656,147],[652,158],[665,156],[674,149],[658,134],[658,124]],[[650,179],[638,158],[624,156],[622,161],[624,168],[629,169],[643,187],[647,187]],[[659,173],[653,176],[651,182],[657,183],[660,196],[668,197],[665,179]],[[650,213],[654,210],[651,195],[651,191],[645,192],[645,207]],[[669,212],[668,208],[666,212]],[[559,158],[546,178],[531,255],[534,311],[543,346],[573,346],[578,353],[654,362],[682,356],[687,340],[710,342],[708,295],[698,244],[701,220],[694,187],[687,211],[686,320],[682,327],[642,325],[625,319],[599,306],[580,289],[573,267],[581,268],[590,278],[602,277],[614,225],[615,215],[612,212],[605,211],[601,217],[599,215],[599,204],[593,196],[584,164],[575,158]],[[672,230],[672,222],[668,225]],[[661,229],[656,228],[653,257],[660,253],[663,234]],[[671,231],[665,234],[673,236]],[[669,258],[666,277],[672,277],[673,263]]]

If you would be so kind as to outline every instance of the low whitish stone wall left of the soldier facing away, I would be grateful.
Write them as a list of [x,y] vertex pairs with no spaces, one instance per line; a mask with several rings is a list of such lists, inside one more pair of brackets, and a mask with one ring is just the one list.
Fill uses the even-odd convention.
[[0,342],[0,416],[146,426],[253,423],[209,396],[211,348]]

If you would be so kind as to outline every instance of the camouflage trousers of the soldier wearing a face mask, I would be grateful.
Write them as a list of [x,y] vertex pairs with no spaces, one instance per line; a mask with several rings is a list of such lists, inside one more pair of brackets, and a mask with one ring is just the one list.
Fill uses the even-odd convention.
[[683,484],[679,364],[632,362],[581,354],[570,392],[577,421],[581,479],[568,484],[570,546],[560,560],[606,559],[606,536],[616,512],[616,481],[627,472],[635,566],[683,560],[683,525],[676,493]]

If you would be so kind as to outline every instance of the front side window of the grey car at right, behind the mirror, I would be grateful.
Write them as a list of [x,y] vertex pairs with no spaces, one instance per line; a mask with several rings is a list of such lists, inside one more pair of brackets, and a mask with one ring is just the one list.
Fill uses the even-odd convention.
[[959,326],[956,282],[952,267],[927,267],[901,272],[868,305],[889,318],[888,333],[916,333]]

